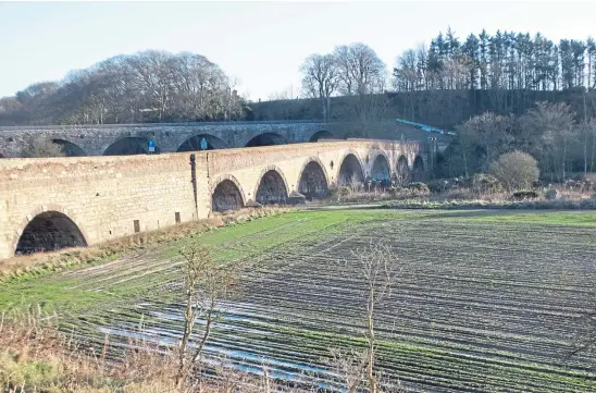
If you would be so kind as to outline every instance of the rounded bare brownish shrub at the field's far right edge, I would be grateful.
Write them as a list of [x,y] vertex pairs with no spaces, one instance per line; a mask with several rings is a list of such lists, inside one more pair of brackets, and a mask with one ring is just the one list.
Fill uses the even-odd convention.
[[541,174],[534,157],[522,151],[501,155],[488,171],[509,189],[529,187]]

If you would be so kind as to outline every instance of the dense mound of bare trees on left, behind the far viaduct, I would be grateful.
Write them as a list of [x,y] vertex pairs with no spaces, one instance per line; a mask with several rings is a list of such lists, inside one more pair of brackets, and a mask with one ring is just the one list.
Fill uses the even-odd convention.
[[235,81],[206,57],[148,50],[0,99],[0,124],[107,124],[243,119]]

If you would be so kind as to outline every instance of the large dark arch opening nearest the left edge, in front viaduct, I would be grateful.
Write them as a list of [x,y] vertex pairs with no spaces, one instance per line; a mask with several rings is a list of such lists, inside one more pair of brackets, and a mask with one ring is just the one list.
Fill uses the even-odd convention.
[[87,242],[73,220],[58,211],[45,211],[25,226],[15,255],[86,246]]

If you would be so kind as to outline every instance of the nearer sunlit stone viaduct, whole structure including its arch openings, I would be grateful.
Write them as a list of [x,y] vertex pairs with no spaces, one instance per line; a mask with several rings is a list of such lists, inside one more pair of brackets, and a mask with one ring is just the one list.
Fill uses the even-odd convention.
[[213,211],[322,198],[335,185],[424,169],[420,144],[373,139],[8,158],[0,160],[0,259],[98,244]]

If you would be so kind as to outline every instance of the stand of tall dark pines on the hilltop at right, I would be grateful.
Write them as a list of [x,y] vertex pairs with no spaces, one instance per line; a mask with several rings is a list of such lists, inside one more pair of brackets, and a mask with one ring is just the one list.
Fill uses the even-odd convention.
[[427,107],[436,97],[468,101],[471,112],[523,114],[535,101],[594,90],[596,44],[592,37],[556,44],[541,33],[497,30],[491,36],[484,29],[461,41],[449,28],[430,47],[401,53],[393,83],[409,98],[407,116],[433,118]]

